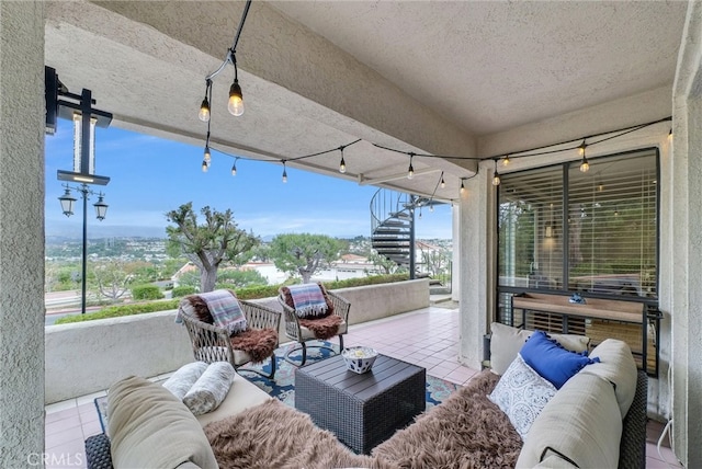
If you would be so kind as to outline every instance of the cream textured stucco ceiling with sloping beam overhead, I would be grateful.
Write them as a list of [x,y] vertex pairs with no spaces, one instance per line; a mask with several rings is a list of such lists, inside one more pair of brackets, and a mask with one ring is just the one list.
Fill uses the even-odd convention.
[[[114,125],[202,148],[204,77],[222,64],[242,9],[47,3],[46,64],[71,92],[91,89]],[[247,110],[226,112],[227,67],[214,81],[213,148],[454,198],[460,178],[474,174],[478,138],[670,89],[686,10],[681,1],[257,1],[237,48]],[[298,159],[356,139],[346,174],[338,151]],[[373,144],[463,159],[418,157],[410,181],[408,157]],[[196,170],[202,150],[192,158]],[[212,170],[229,168],[215,160]]]

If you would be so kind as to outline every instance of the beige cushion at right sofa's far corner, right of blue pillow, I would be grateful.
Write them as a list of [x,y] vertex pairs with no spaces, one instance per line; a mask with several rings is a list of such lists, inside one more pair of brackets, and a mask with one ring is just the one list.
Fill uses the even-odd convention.
[[582,368],[580,373],[597,375],[614,384],[614,394],[622,419],[629,412],[636,393],[636,362],[626,342],[616,339],[605,339],[590,353],[591,357],[600,357],[600,363],[593,363]]

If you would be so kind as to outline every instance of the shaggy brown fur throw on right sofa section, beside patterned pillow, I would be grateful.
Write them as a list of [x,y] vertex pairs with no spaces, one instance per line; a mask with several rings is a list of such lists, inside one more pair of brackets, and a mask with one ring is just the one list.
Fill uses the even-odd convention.
[[498,379],[490,370],[480,371],[372,455],[378,464],[399,468],[513,468],[522,441],[487,398]]

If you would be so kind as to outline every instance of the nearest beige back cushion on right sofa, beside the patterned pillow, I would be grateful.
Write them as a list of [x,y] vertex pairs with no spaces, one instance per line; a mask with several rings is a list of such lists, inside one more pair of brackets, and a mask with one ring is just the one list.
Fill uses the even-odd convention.
[[532,424],[517,467],[533,468],[542,462],[542,455],[561,454],[579,468],[615,468],[621,436],[622,419],[612,384],[578,373]]

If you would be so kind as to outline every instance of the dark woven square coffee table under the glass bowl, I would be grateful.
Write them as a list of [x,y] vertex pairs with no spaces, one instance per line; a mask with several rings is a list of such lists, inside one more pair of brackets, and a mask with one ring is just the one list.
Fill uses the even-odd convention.
[[295,408],[358,454],[369,454],[424,410],[427,370],[378,355],[362,375],[341,355],[295,370]]

